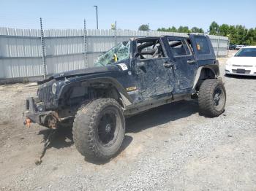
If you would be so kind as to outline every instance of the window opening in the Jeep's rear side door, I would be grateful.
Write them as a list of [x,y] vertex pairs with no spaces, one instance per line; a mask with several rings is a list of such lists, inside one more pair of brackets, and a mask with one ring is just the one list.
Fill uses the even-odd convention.
[[189,47],[187,46],[187,43],[184,42],[184,40],[168,39],[168,43],[174,57],[191,54],[189,51]]

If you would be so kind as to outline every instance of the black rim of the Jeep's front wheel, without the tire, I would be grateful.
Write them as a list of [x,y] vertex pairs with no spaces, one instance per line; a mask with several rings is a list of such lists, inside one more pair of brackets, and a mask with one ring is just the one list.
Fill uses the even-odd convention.
[[98,137],[102,145],[108,147],[115,141],[117,122],[115,112],[106,110],[102,113],[98,125]]

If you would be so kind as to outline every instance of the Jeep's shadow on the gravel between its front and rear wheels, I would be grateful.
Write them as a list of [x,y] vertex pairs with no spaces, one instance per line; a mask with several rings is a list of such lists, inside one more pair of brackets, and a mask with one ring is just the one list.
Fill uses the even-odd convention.
[[127,119],[127,133],[138,133],[141,130],[154,128],[167,122],[179,120],[198,112],[197,101],[178,101],[159,106],[142,114]]

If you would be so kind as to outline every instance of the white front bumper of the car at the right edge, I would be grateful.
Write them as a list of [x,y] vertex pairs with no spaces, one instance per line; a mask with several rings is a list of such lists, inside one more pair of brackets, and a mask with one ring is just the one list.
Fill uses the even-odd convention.
[[226,65],[225,74],[233,74],[240,76],[256,76],[256,67],[238,67],[233,65]]

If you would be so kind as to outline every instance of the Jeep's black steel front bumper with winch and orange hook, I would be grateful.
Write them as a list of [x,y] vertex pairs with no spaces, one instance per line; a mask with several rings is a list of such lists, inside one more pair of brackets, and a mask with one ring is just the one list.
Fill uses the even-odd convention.
[[54,111],[45,111],[45,104],[39,101],[38,97],[30,97],[26,99],[26,112],[24,112],[24,125],[30,125],[36,122],[47,128],[55,129],[59,122],[58,114]]

